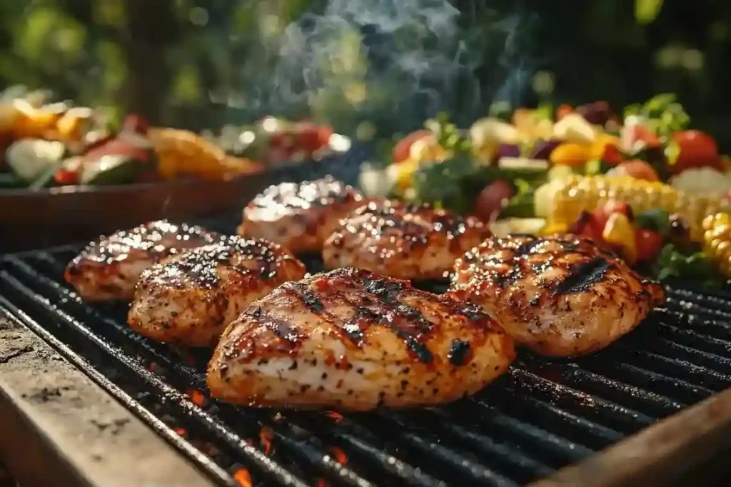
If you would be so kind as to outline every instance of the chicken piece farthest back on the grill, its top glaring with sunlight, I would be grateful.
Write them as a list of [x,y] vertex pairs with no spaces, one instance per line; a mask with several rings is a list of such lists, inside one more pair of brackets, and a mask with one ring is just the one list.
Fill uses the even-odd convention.
[[360,193],[332,176],[282,183],[243,209],[237,233],[266,238],[295,253],[319,252],[338,221],[363,203]]

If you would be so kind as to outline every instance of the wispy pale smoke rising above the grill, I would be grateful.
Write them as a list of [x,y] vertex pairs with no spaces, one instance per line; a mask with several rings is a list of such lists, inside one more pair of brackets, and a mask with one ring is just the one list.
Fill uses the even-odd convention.
[[[501,23],[504,45],[485,46],[484,24],[466,32],[460,20],[449,0],[329,0],[284,28],[276,45],[269,39],[261,66],[245,61],[257,76],[248,105],[350,128],[376,119],[396,131],[440,110],[482,116],[485,86],[475,70],[484,70],[486,52],[510,51],[520,25]],[[488,82],[515,98],[525,72],[512,73],[502,90],[502,80]]]

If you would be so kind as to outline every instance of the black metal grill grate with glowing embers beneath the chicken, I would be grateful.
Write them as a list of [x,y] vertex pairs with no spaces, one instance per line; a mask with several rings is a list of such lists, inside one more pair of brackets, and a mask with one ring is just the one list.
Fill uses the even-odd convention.
[[[237,219],[207,226],[230,232]],[[0,307],[102,372],[222,485],[518,486],[731,385],[731,294],[671,288],[664,309],[607,350],[574,361],[523,353],[482,393],[447,407],[232,407],[206,396],[207,352],[145,339],[126,325],[124,306],[77,298],[61,276],[78,250],[3,257]]]

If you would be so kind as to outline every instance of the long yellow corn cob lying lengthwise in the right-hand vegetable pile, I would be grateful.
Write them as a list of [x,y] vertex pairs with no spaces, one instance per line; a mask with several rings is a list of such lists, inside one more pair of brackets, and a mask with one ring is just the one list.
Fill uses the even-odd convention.
[[719,212],[731,212],[731,201],[718,196],[692,195],[659,182],[629,176],[573,175],[556,181],[548,208],[551,225],[570,225],[582,211],[593,211],[608,200],[618,200],[635,213],[662,208],[686,220],[692,240],[703,238],[703,219]]

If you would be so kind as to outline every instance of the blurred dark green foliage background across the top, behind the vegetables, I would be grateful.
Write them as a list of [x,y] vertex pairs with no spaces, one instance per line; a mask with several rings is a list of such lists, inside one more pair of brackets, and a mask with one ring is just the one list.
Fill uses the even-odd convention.
[[6,0],[0,88],[195,130],[271,113],[392,134],[491,102],[672,91],[731,149],[731,2]]

